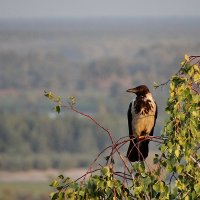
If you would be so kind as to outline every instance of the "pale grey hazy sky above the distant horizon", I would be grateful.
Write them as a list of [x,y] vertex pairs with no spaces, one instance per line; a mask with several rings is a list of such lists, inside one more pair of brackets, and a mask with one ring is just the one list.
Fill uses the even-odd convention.
[[199,16],[200,0],[0,0],[0,19]]

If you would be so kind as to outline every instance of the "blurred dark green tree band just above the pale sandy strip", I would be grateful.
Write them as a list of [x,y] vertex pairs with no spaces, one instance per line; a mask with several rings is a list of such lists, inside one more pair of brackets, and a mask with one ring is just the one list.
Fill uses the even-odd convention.
[[[124,136],[124,124],[112,118],[109,128],[115,137]],[[106,125],[107,119],[97,119]],[[0,169],[4,170],[85,167],[110,144],[108,135],[73,113],[3,114],[0,130]]]

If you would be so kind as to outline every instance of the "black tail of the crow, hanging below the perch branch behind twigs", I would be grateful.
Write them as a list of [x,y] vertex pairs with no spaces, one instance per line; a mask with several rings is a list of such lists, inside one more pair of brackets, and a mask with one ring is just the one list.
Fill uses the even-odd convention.
[[149,140],[138,142],[137,139],[130,141],[127,157],[131,162],[143,161],[149,153]]

